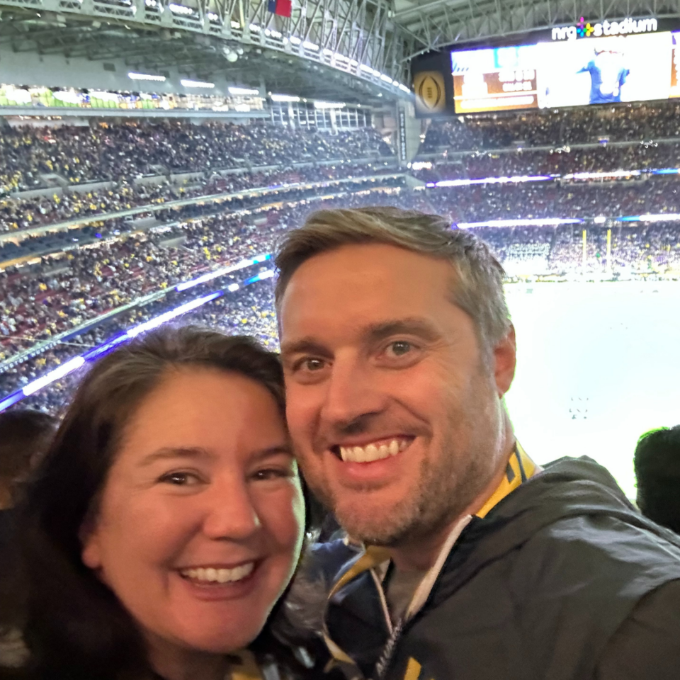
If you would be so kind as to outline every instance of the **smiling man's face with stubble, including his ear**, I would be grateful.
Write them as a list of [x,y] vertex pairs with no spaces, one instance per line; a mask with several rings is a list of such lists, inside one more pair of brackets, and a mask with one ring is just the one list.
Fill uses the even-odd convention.
[[314,256],[280,307],[288,425],[346,531],[399,545],[441,531],[489,484],[514,338],[482,361],[447,261],[386,244]]

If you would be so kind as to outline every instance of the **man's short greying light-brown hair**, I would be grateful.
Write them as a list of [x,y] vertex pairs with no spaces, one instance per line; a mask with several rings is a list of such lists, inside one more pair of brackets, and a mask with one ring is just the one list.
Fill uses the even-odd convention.
[[349,244],[383,243],[446,259],[453,269],[452,302],[470,315],[482,350],[492,351],[510,328],[501,263],[471,232],[445,217],[385,206],[312,212],[300,229],[285,234],[276,267],[276,309],[297,268],[315,255]]

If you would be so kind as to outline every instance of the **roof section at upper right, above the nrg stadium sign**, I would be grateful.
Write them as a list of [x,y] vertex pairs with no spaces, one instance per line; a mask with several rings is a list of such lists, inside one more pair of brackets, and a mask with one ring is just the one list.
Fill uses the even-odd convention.
[[680,0],[395,0],[393,21],[412,38],[407,60],[460,42],[632,16],[680,18]]

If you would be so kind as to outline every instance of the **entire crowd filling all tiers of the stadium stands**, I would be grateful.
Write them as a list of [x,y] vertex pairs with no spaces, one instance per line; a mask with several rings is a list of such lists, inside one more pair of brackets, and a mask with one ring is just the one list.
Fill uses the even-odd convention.
[[[595,111],[586,108],[572,111],[566,117],[564,112],[537,112],[510,118],[457,119],[453,123],[433,124],[421,150],[430,148],[433,140],[437,141],[433,135],[448,135],[446,130],[449,129],[453,136],[446,144],[454,150],[475,145],[487,149],[507,146],[526,140],[524,132],[527,130],[533,135],[528,145],[542,144],[544,139],[572,143],[592,141],[593,135],[604,135],[606,130],[612,139],[634,140],[638,138],[635,137],[638,132],[630,120],[640,123],[645,115],[650,117],[645,123],[645,137],[650,136],[647,130],[653,130],[660,138],[662,132],[669,136],[676,134],[675,110],[675,105],[669,104],[626,108],[626,115],[618,118],[616,115],[612,118],[610,108],[596,108]],[[617,126],[612,122],[615,120],[625,123]],[[455,143],[451,141],[454,138]],[[0,291],[3,293],[0,295],[0,362],[38,341],[79,327],[83,322],[143,295],[159,290],[169,293],[155,302],[116,314],[68,342],[8,368],[0,373],[0,398],[82,353],[84,348],[97,346],[183,300],[219,288],[215,281],[186,293],[173,290],[181,281],[191,280],[246,256],[271,251],[281,231],[300,224],[306,212],[322,205],[353,207],[388,203],[438,212],[459,223],[680,212],[674,176],[615,183],[567,181],[563,177],[579,171],[674,167],[679,164],[680,147],[670,143],[559,150],[553,145],[552,151],[524,149],[519,152],[514,149],[507,153],[449,154],[432,169],[415,173],[418,179],[428,182],[517,174],[562,176],[538,183],[479,184],[411,192],[403,188],[401,181],[385,180],[378,183],[382,189],[375,193],[364,191],[368,184],[357,179],[339,190],[346,192],[344,196],[324,201],[313,200],[317,191],[295,186],[302,182],[333,181],[391,171],[392,164],[385,166],[382,159],[370,164],[371,158],[385,152],[382,144],[375,130],[355,130],[331,137],[270,125],[246,128],[223,123],[200,126],[125,123],[95,128],[14,128],[0,138],[0,167],[13,173],[14,179],[19,178],[8,186],[26,188],[34,179],[38,183],[42,181],[41,175],[50,172],[62,174],[72,182],[104,179],[113,181],[113,185],[96,191],[65,191],[59,196],[23,200],[16,198],[16,194],[4,196],[0,199],[0,231],[21,230],[174,199],[238,193],[257,186],[270,187],[271,195],[143,212],[135,219],[150,215],[156,218],[155,226],[145,227],[145,231],[139,231],[133,223],[119,218],[89,222],[77,231],[60,232],[58,238],[55,234],[47,234],[23,239],[20,246],[28,244],[33,251],[42,254],[40,248],[47,244],[47,250],[53,255],[43,256],[38,265],[9,267],[0,272]],[[442,144],[437,146],[441,148]],[[174,149],[172,153],[170,147]],[[98,152],[95,153],[96,149]],[[293,162],[361,157],[366,159],[361,164],[292,167]],[[2,159],[5,159],[4,165]],[[266,164],[277,167],[265,171],[253,169]],[[237,166],[243,171],[216,172]],[[183,184],[167,180],[155,185],[135,182],[143,174],[169,175],[171,171],[180,170],[200,174]],[[293,186],[280,188],[281,185]],[[397,185],[401,186],[399,191],[390,188]],[[570,276],[582,271],[608,271],[613,276],[622,273],[649,276],[680,269],[680,229],[672,223],[614,227],[611,262],[606,261],[607,226],[587,226],[585,262],[582,225],[477,230],[498,252],[511,276]],[[72,249],[64,251],[63,238],[74,241]],[[9,244],[0,249],[0,260],[5,261],[12,248],[20,246]],[[228,280],[226,283],[222,280],[220,285],[228,283]],[[268,282],[251,285],[210,302],[193,312],[191,319],[237,328],[239,332],[254,334],[266,344],[276,346]],[[60,382],[62,387],[50,387],[31,397],[33,405],[57,410],[69,380],[64,378]]]

